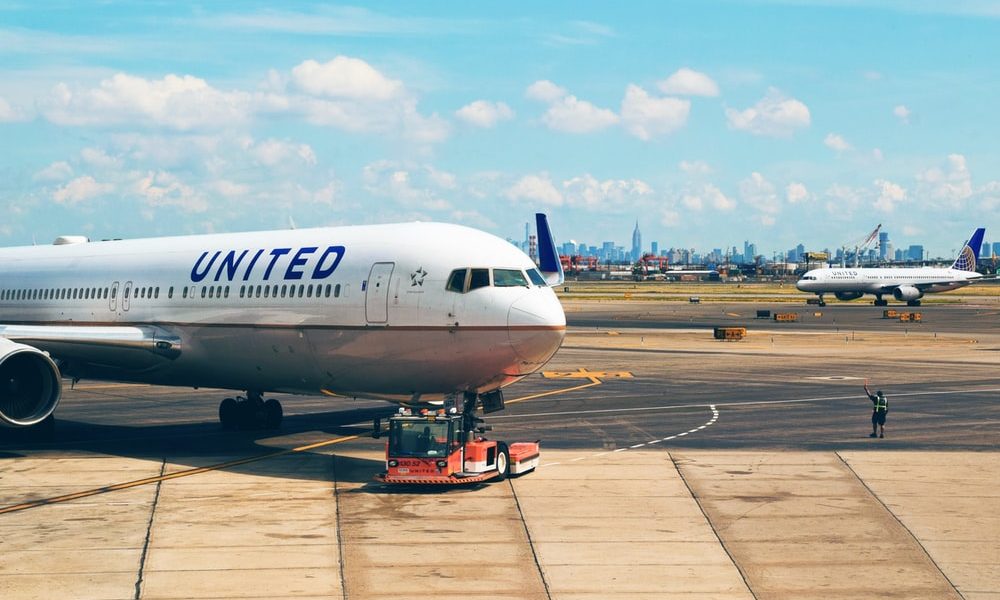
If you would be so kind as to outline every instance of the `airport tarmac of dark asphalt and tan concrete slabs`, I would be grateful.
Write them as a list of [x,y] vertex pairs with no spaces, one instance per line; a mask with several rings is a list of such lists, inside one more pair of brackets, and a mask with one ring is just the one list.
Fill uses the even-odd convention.
[[81,382],[0,438],[0,597],[1000,599],[997,308],[756,308],[567,303],[487,417],[542,464],[462,489],[372,480],[386,404],[224,432],[224,392]]

